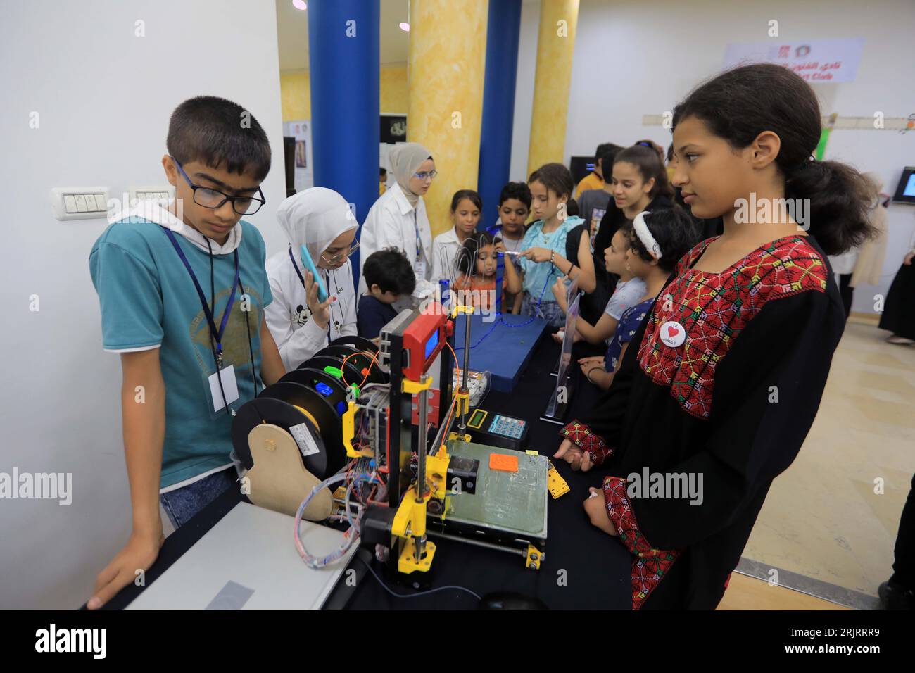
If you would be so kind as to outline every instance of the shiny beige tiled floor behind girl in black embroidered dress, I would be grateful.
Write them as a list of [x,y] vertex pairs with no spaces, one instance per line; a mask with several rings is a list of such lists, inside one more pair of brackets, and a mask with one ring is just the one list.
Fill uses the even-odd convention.
[[887,335],[846,326],[813,428],[772,484],[745,559],[870,596],[889,577],[915,473],[915,347]]

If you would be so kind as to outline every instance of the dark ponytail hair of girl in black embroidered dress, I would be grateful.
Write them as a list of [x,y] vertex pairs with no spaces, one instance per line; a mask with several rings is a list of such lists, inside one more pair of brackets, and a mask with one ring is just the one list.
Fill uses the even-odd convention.
[[823,130],[820,104],[796,72],[772,63],[723,72],[673,109],[673,128],[691,116],[736,149],[748,147],[763,131],[779,136],[775,163],[785,179],[785,199],[810,200],[810,233],[827,255],[873,235],[867,180],[847,164],[813,158]]

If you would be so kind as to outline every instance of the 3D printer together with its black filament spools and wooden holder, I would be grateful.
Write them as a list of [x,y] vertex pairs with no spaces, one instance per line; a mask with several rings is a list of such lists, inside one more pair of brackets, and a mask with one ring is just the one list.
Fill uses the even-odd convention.
[[[453,333],[453,317],[439,303],[405,310],[382,329],[377,350],[341,337],[239,410],[232,439],[249,497],[296,516],[296,547],[309,567],[341,558],[359,540],[390,572],[415,580],[435,558],[430,537],[447,537],[519,554],[539,569],[549,463],[533,451],[470,441],[470,330],[456,391]],[[436,359],[441,404],[430,443]],[[349,523],[343,546],[309,553],[301,518]]]

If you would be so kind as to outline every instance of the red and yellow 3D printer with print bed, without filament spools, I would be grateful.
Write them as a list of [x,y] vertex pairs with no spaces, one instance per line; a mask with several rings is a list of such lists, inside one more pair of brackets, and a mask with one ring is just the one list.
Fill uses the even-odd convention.
[[[389,570],[425,572],[435,556],[429,537],[521,554],[537,569],[546,543],[548,462],[536,453],[473,443],[468,428],[469,330],[465,331],[462,385],[452,391],[448,343],[453,321],[440,304],[404,311],[382,329],[379,363],[390,374],[375,396],[356,403],[361,431],[350,455],[361,452],[387,469],[387,502],[372,503],[361,519],[362,543],[390,549]],[[438,431],[426,441],[429,371],[439,359],[442,400]],[[411,423],[418,396],[418,428]],[[452,426],[456,431],[452,432]],[[348,434],[344,423],[344,435]]]

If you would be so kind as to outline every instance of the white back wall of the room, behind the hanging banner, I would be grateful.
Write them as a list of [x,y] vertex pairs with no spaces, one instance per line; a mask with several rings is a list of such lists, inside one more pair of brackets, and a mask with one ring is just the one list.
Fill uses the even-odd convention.
[[[522,178],[530,136],[533,65],[539,3],[524,5],[511,174]],[[533,13],[533,15],[532,15]],[[523,16],[523,15],[522,15]],[[856,81],[818,84],[823,114],[888,117],[915,113],[910,52],[915,27],[911,0],[581,0],[565,134],[565,161],[589,155],[600,142],[619,145],[647,137],[667,147],[670,133],[641,125],[642,114],[673,110],[695,84],[721,70],[728,42],[768,38],[770,19],[780,38],[865,38]],[[778,38],[772,38],[778,39]],[[526,113],[526,115],[525,115]],[[523,143],[521,139],[524,139]],[[915,164],[915,133],[835,131],[826,157],[847,161],[883,176],[891,193],[902,167]],[[523,160],[522,160],[523,159]],[[516,168],[521,168],[518,172]],[[915,207],[891,205],[889,244],[882,282],[856,290],[853,309],[873,312],[874,295],[886,293],[915,229]]]

